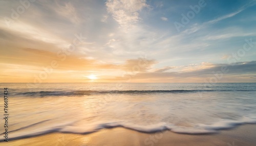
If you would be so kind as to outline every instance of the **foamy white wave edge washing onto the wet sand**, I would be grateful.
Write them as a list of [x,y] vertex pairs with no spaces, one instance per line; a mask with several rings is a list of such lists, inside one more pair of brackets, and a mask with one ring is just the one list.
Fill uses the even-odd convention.
[[[38,135],[44,135],[53,132],[61,132],[61,133],[74,133],[74,134],[89,134],[93,132],[97,132],[101,129],[111,129],[122,127],[125,129],[135,130],[138,132],[143,133],[156,133],[156,132],[164,132],[166,130],[180,133],[180,134],[213,134],[218,133],[220,130],[225,129],[232,129],[236,128],[239,125],[244,124],[256,124],[256,118],[252,117],[244,117],[240,120],[230,120],[230,119],[222,119],[217,123],[212,125],[204,125],[198,124],[194,127],[181,127],[176,126],[174,124],[167,124],[167,123],[158,123],[154,125],[134,125],[134,124],[123,124],[117,122],[108,122],[108,123],[94,123],[90,125],[83,125],[83,126],[76,126],[75,122],[66,123],[66,124],[59,124],[59,125],[52,125],[45,128],[35,128],[36,130],[32,131],[19,131],[15,130],[12,133],[12,137],[9,140],[14,139],[22,139],[27,137],[33,137]],[[28,127],[32,127],[35,124],[31,124]],[[24,128],[22,128],[24,129]],[[4,141],[4,138],[1,134],[0,141]]]

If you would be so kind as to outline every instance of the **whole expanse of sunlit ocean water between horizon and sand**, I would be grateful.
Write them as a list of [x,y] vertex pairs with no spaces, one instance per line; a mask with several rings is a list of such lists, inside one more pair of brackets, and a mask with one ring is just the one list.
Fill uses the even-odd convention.
[[[218,133],[256,124],[256,83],[1,83],[9,140],[51,132]],[[4,114],[4,101],[0,104]],[[0,135],[0,140],[4,140]]]

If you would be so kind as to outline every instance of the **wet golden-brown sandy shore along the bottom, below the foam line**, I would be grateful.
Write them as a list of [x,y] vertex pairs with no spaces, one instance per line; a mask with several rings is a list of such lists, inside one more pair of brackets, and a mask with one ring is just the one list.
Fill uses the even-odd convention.
[[211,135],[186,135],[170,131],[140,133],[124,128],[104,129],[91,134],[51,133],[9,142],[0,145],[225,145],[254,146],[256,125],[243,125],[232,130],[223,130]]

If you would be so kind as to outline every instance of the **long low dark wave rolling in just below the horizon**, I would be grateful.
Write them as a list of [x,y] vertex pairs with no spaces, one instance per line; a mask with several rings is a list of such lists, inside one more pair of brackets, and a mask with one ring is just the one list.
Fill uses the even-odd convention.
[[214,92],[214,91],[255,91],[255,90],[75,90],[75,91],[33,91],[21,92],[16,95],[26,96],[81,96],[91,94],[146,94],[146,93],[191,93],[191,92]]

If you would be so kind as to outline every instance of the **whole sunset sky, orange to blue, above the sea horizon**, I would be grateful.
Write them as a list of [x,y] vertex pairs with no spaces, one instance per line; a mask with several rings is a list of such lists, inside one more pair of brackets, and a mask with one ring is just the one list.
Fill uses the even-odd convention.
[[256,82],[255,14],[255,0],[1,0],[0,82]]

